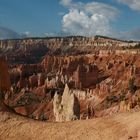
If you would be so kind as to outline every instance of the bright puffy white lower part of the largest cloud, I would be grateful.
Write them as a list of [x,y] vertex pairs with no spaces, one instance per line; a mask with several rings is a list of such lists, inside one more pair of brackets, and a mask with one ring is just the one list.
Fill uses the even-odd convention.
[[74,9],[63,17],[63,31],[73,35],[109,35],[111,28],[103,15],[88,16],[85,12]]

